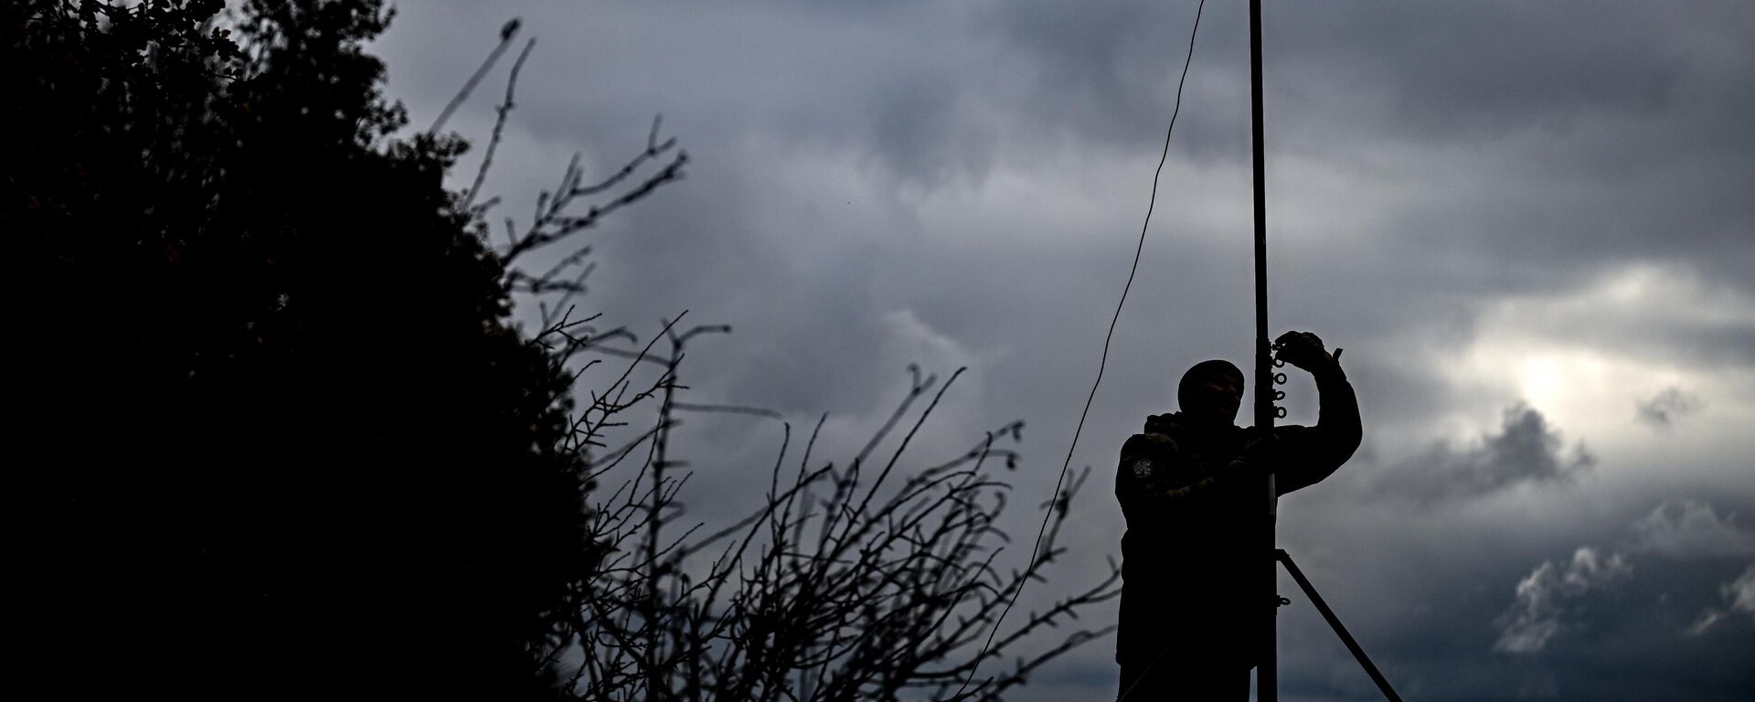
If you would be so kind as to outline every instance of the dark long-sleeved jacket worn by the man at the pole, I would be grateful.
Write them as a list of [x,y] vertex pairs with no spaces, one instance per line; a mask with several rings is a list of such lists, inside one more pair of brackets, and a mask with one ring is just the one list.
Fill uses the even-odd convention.
[[1121,628],[1116,660],[1255,665],[1267,588],[1269,456],[1279,495],[1329,477],[1358,448],[1358,400],[1339,365],[1316,372],[1316,426],[1276,426],[1271,453],[1246,465],[1253,439],[1237,426],[1190,426],[1181,412],[1146,418],[1121,446],[1114,495],[1127,516],[1121,537]]

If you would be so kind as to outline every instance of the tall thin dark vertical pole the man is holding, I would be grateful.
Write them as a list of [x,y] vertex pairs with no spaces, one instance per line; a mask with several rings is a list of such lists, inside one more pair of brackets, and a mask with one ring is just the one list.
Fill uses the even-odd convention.
[[[1255,426],[1260,432],[1274,428],[1274,383],[1272,360],[1267,347],[1267,186],[1264,181],[1262,160],[1262,0],[1250,0],[1250,137],[1255,146]],[[1276,577],[1279,567],[1274,560],[1274,519],[1279,509],[1279,495],[1274,490],[1274,476],[1267,474],[1267,514],[1262,518],[1262,560],[1258,563],[1262,593],[1251,618],[1260,618],[1262,653],[1255,670],[1255,698],[1274,702],[1279,698],[1278,670],[1278,602]]]

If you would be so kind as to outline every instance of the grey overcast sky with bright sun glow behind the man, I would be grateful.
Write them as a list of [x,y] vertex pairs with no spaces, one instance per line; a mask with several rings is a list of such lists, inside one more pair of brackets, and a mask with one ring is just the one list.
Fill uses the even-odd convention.
[[[1206,7],[1074,455],[1095,467],[1078,549],[1027,598],[1118,555],[1116,451],[1176,409],[1181,370],[1250,367],[1244,7]],[[1365,423],[1339,474],[1283,500],[1281,544],[1409,700],[1755,698],[1755,5],[1264,14],[1269,318],[1346,347]],[[693,347],[693,398],[830,412],[825,456],[851,455],[907,363],[967,365],[913,456],[1025,419],[1014,504],[1048,497],[1195,2],[402,4],[374,51],[414,125],[514,16],[539,44],[486,186],[500,214],[526,218],[572,153],[607,176],[656,112],[693,158],[590,233],[593,311],[642,335],[683,309],[732,325]],[[505,67],[449,128],[486,137]],[[1295,376],[1286,421],[1311,423]],[[688,432],[697,516],[758,498],[777,426]],[[1028,539],[1034,514],[1013,516]],[[1283,698],[1374,698],[1281,591]],[[1111,655],[1086,646],[1016,697],[1113,698]]]

